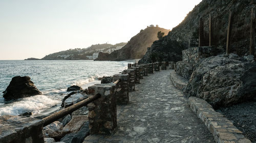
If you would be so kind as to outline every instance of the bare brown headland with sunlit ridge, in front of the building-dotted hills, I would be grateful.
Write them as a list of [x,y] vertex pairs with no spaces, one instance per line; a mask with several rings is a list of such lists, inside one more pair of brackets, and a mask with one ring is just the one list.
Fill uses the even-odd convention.
[[129,59],[141,59],[147,51],[147,47],[150,47],[157,38],[157,33],[161,31],[165,35],[168,34],[169,30],[161,27],[147,27],[141,30],[136,36],[123,46],[121,49],[116,50],[112,53],[99,52],[96,61],[123,61]]

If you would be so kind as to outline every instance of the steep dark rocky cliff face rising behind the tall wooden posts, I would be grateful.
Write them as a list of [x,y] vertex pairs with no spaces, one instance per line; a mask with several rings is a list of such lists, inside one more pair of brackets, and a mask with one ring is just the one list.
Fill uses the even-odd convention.
[[199,20],[204,21],[204,45],[209,45],[209,14],[212,23],[212,43],[225,52],[229,11],[233,12],[231,52],[244,55],[249,52],[250,0],[203,0],[185,19],[163,39],[155,41],[139,63],[181,61],[182,50],[198,46]]

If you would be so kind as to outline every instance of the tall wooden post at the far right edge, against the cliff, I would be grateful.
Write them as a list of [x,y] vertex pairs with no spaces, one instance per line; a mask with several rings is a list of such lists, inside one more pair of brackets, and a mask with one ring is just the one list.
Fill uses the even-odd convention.
[[255,23],[254,23],[254,8],[251,9],[251,30],[250,30],[250,54],[254,55],[254,40],[255,40]]

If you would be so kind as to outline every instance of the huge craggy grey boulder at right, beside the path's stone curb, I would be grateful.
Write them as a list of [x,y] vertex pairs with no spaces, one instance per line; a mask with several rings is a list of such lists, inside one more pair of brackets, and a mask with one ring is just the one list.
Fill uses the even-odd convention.
[[206,100],[214,108],[229,106],[256,96],[256,62],[238,56],[205,59],[191,75],[185,95]]

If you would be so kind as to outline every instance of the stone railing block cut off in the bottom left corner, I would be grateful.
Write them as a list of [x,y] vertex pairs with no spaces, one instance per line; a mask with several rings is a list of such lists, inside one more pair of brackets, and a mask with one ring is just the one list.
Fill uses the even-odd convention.
[[44,120],[21,116],[0,116],[1,143],[44,143]]

